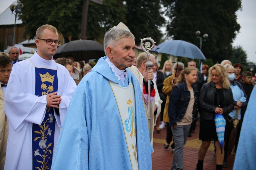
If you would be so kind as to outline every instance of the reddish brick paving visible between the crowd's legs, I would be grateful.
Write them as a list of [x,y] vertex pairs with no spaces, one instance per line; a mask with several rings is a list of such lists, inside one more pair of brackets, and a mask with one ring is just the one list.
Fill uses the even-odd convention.
[[[201,146],[201,140],[198,139],[199,136],[199,122],[197,122],[197,127],[195,133],[192,133],[192,137],[188,137],[187,143],[184,148],[184,170],[195,170],[198,160],[198,150]],[[166,139],[166,128],[161,129],[160,133],[154,130],[154,153],[152,154],[152,166],[153,170],[164,170],[171,169],[172,163],[172,149],[164,149],[163,145]],[[232,170],[234,163],[235,154],[232,153],[227,160],[228,168],[223,168],[223,170]],[[214,144],[211,143],[209,150],[204,158],[203,168],[205,170],[215,170],[215,157],[214,157]]]

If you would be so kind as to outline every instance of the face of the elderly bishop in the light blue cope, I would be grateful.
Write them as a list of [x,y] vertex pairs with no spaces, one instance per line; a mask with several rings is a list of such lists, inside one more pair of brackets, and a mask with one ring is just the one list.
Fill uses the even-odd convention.
[[125,70],[131,67],[134,53],[135,41],[133,38],[121,38],[115,47],[111,47],[110,61],[119,69]]

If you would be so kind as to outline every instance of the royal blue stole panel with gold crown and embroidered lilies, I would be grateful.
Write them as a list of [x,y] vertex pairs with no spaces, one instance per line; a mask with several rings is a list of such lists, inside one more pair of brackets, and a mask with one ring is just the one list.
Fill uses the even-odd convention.
[[[43,96],[57,91],[57,70],[35,67],[35,95]],[[54,108],[47,107],[42,124],[32,125],[32,169],[51,169],[53,160]]]

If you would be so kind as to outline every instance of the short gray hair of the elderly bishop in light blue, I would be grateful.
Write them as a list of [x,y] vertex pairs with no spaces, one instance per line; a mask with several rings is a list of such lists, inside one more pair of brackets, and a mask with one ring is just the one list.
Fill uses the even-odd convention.
[[109,46],[114,47],[121,38],[133,38],[135,39],[134,35],[127,30],[120,29],[120,28],[110,28],[109,31],[106,32],[104,37],[104,51],[106,56],[108,56],[106,52],[106,48]]

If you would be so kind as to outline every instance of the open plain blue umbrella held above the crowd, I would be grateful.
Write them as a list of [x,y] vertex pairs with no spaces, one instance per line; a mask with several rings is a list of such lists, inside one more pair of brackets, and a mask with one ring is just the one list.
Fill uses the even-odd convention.
[[166,53],[175,57],[187,57],[194,59],[205,60],[205,56],[201,50],[194,44],[183,40],[165,41],[155,47],[152,51],[158,53]]

